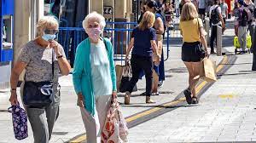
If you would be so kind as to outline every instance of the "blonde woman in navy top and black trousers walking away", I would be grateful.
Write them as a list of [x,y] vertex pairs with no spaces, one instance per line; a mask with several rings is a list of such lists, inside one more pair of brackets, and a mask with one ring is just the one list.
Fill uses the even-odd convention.
[[130,96],[132,89],[138,81],[140,72],[143,70],[146,75],[146,103],[154,103],[150,99],[152,94],[152,78],[153,78],[153,52],[157,54],[156,62],[160,60],[156,45],[156,31],[154,28],[155,16],[147,11],[143,14],[143,20],[140,22],[131,34],[131,41],[126,51],[125,61],[131,52],[131,71],[132,77],[129,86],[125,92],[125,104],[130,104]]

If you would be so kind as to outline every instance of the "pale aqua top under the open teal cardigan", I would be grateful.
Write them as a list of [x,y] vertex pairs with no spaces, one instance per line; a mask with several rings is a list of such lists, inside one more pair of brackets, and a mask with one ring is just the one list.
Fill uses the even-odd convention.
[[113,86],[108,51],[102,41],[90,43],[90,67],[95,96],[112,94]]

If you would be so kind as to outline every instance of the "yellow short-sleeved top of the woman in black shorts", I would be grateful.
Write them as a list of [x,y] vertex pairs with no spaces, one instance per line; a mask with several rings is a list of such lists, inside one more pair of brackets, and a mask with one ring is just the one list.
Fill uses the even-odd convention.
[[202,21],[200,18],[194,20],[181,21],[179,28],[182,31],[183,42],[194,43],[200,42],[199,27],[202,27]]

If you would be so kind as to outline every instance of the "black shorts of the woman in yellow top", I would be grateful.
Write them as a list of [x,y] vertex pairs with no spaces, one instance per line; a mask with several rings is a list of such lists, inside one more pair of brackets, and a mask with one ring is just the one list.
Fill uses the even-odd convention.
[[201,43],[183,43],[182,60],[186,62],[201,61]]

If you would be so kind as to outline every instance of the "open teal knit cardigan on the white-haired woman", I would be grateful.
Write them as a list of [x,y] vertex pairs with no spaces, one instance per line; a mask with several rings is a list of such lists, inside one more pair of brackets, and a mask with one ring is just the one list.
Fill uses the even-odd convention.
[[[110,65],[110,74],[113,85],[113,91],[116,91],[116,73],[113,61],[113,48],[108,38],[103,39],[107,44],[108,60]],[[77,94],[82,93],[84,96],[85,109],[92,116],[95,115],[95,96],[91,80],[90,69],[90,39],[86,38],[79,43],[76,50],[76,56],[73,66],[73,86]]]

